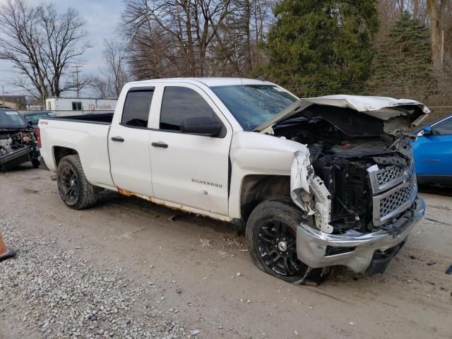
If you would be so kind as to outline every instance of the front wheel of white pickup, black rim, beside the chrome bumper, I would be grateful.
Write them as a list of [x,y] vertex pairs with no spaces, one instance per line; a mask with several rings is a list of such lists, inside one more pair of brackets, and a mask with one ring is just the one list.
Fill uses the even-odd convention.
[[254,264],[264,272],[302,285],[318,285],[330,273],[329,268],[311,268],[297,257],[297,225],[306,222],[291,201],[263,201],[246,223],[246,242]]

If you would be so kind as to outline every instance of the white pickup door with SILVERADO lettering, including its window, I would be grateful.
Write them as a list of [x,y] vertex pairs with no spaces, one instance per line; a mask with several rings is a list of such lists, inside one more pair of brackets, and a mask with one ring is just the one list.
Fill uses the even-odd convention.
[[[196,85],[159,88],[160,117],[151,136],[155,198],[227,215],[232,128],[213,100]],[[211,117],[223,125],[219,136],[182,133],[187,117]]]

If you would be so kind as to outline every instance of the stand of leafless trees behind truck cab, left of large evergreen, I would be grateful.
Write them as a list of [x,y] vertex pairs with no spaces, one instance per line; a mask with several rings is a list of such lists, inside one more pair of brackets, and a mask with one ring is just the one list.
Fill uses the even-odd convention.
[[121,29],[137,78],[249,76],[275,0],[125,0]]

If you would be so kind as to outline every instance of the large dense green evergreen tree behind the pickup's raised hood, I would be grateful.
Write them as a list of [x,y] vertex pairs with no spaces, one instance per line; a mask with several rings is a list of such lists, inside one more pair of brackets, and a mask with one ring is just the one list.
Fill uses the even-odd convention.
[[261,73],[301,96],[361,92],[378,29],[376,0],[282,0],[274,13]]

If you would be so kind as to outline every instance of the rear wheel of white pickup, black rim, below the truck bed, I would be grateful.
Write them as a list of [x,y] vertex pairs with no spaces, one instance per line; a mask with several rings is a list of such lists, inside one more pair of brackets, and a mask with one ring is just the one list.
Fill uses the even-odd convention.
[[96,203],[96,188],[86,179],[78,155],[63,157],[59,162],[57,175],[59,195],[67,206],[83,210]]

